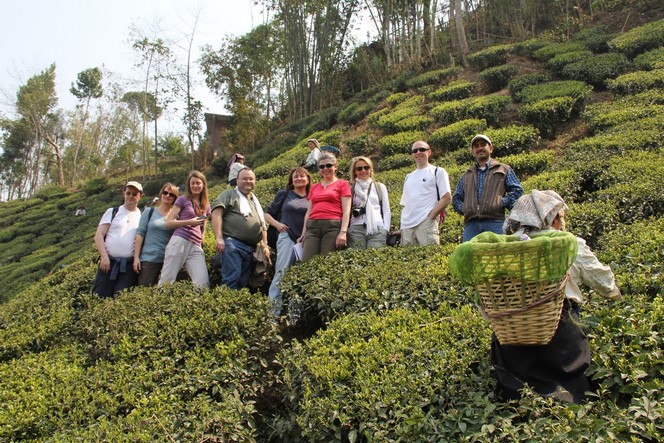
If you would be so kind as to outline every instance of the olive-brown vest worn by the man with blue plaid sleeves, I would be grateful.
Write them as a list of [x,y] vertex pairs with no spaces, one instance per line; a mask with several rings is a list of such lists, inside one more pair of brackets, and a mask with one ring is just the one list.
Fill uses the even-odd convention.
[[463,173],[464,223],[474,219],[504,220],[503,196],[509,166],[491,160],[480,201],[477,201],[477,164]]

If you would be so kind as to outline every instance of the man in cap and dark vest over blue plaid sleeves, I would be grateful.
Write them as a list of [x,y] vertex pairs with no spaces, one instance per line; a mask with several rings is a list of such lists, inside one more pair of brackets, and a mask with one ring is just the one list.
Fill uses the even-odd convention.
[[489,137],[476,135],[470,149],[475,164],[463,173],[452,197],[452,206],[463,215],[463,241],[486,231],[502,234],[505,210],[512,209],[523,195],[512,168],[491,158]]

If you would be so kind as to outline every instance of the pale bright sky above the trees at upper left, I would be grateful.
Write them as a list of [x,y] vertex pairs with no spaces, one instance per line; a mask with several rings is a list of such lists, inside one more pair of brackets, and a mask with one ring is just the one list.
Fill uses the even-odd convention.
[[[137,81],[142,71],[135,68],[130,27],[153,36],[148,30],[158,24],[168,37],[185,42],[199,10],[194,59],[204,44],[218,49],[224,36],[240,36],[263,23],[252,0],[0,0],[0,113],[13,116],[18,88],[54,62],[63,109],[76,105],[69,88],[85,69],[103,67],[115,80]],[[206,111],[224,113],[201,74],[198,82],[194,96]]]

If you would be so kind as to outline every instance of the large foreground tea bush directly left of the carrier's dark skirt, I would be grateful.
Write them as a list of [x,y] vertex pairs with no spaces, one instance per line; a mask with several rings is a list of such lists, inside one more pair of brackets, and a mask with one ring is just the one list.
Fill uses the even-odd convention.
[[[458,440],[466,427],[449,420],[447,411],[494,399],[489,336],[471,308],[341,318],[284,353],[284,397],[292,399],[292,409],[279,428],[293,434],[281,437]],[[468,420],[477,420],[470,427],[481,426],[479,417]]]

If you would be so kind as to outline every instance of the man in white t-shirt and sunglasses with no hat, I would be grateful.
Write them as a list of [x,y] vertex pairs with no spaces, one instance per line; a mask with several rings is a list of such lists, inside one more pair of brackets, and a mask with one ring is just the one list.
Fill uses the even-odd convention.
[[413,143],[411,154],[417,169],[406,176],[401,194],[401,244],[440,244],[438,216],[452,201],[447,171],[429,164],[431,147]]

